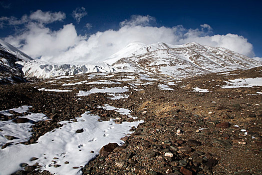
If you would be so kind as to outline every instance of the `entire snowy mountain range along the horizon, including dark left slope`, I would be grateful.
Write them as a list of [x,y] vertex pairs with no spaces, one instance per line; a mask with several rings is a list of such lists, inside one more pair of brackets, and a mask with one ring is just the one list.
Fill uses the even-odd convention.
[[195,42],[172,45],[132,42],[99,63],[50,63],[36,60],[0,40],[0,83],[22,82],[25,77],[48,78],[87,72],[150,72],[175,78],[210,72],[248,69],[262,62],[227,48]]

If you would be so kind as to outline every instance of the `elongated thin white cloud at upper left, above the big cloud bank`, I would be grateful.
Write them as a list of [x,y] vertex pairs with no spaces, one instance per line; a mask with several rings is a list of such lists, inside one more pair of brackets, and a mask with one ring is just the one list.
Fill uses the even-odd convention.
[[65,18],[65,13],[58,11],[58,12],[51,12],[51,11],[42,11],[40,9],[32,12],[29,16],[31,20],[36,20],[41,23],[51,23],[54,21],[61,21]]

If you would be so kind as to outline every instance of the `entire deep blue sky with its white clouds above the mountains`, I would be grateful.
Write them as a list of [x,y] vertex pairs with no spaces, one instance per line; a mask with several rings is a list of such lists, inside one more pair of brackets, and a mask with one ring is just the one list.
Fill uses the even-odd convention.
[[130,41],[196,41],[262,57],[261,6],[262,0],[1,0],[0,38],[49,61],[102,60]]

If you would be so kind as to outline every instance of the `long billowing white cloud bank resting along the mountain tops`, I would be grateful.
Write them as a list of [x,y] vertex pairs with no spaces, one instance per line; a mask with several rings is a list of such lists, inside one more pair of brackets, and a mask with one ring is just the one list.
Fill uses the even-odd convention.
[[[77,34],[72,23],[63,25],[59,30],[51,30],[43,23],[29,22],[22,32],[6,37],[5,41],[34,58],[51,62],[103,61],[133,41],[145,44],[184,44],[194,41],[255,56],[253,45],[243,36],[231,33],[214,35],[208,24],[195,29],[182,25],[149,26],[152,20],[149,15],[133,15],[129,20],[120,22],[121,27],[118,30],[98,31],[89,36]],[[90,25],[88,23],[86,27]]]

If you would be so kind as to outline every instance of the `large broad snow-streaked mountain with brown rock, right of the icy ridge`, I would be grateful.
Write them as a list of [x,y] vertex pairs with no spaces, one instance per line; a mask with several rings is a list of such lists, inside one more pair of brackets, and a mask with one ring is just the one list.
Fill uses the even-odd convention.
[[117,60],[112,65],[118,71],[149,71],[178,78],[262,65],[261,61],[227,48],[195,42],[183,45],[131,43],[106,62],[111,63],[112,60]]

